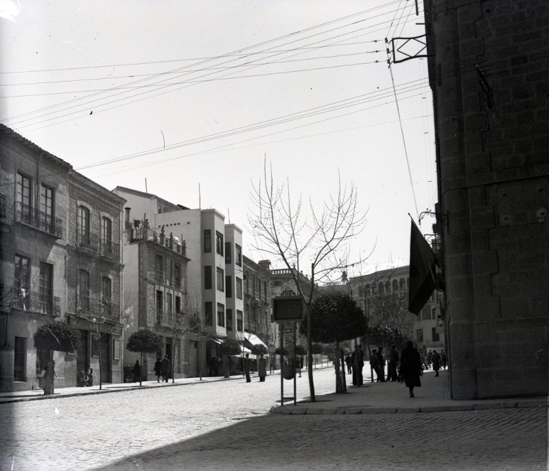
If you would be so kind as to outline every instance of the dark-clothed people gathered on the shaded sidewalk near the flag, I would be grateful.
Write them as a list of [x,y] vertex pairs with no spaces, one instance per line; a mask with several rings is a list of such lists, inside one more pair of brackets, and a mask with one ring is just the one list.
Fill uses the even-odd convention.
[[[446,356],[442,357],[436,350],[433,350],[430,352],[430,361],[433,370],[436,372],[435,376],[439,376],[441,365],[444,364],[444,367],[446,367]],[[362,367],[364,366],[364,351],[362,350],[362,346],[355,346],[353,353],[347,354],[347,357],[345,357],[345,363],[347,365],[347,373],[353,375],[353,385],[358,387],[362,386]],[[386,359],[384,357],[383,347],[372,350],[370,365],[373,372],[375,372],[376,381],[378,383],[385,383],[386,381],[404,381],[406,387],[410,390],[410,398],[414,397],[414,387],[421,387],[420,376],[423,374],[424,360],[422,354],[414,348],[414,343],[412,341],[406,342],[406,348],[402,350],[400,355],[395,345],[390,346],[386,377]]]

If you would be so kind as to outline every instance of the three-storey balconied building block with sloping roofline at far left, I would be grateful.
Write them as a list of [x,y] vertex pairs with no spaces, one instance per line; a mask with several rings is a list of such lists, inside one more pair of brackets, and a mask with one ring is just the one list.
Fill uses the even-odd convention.
[[38,387],[47,359],[33,335],[54,321],[81,332],[76,352],[54,354],[57,386],[76,385],[87,367],[119,382],[124,200],[9,128],[0,134],[0,389]]

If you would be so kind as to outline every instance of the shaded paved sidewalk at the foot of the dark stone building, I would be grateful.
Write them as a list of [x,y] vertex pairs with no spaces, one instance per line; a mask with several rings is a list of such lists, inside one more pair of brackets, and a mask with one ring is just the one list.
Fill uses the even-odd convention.
[[[435,376],[432,370],[423,372],[421,387],[414,389],[410,398],[404,383],[370,383],[364,377],[364,385],[354,387],[351,375],[346,375],[347,394],[316,396],[316,402],[301,401],[294,405],[286,402],[274,406],[271,413],[300,414],[377,414],[414,413],[439,411],[472,411],[480,409],[504,409],[513,407],[548,407],[548,398],[504,398],[478,400],[452,400],[450,398],[449,372],[443,370]],[[349,386],[349,383],[351,385]]]

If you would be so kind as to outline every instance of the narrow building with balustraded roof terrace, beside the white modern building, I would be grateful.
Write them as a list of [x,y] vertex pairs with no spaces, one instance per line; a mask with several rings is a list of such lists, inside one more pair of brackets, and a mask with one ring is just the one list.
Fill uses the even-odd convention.
[[[154,368],[156,357],[167,355],[173,376],[187,377],[189,324],[185,306],[189,259],[185,242],[173,233],[166,235],[164,228],[151,228],[148,221],[138,224],[130,221],[129,208],[125,228],[123,251],[128,261],[124,267],[125,335],[129,337],[141,328],[154,330],[161,335],[163,348],[143,357],[143,371]],[[139,354],[125,352],[126,374],[139,359]]]

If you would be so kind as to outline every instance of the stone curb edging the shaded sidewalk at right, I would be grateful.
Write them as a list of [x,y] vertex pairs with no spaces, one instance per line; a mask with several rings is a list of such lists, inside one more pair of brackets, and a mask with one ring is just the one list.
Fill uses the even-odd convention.
[[[298,404],[299,405],[299,404]],[[511,401],[511,402],[490,402],[487,404],[449,404],[443,406],[425,406],[425,407],[334,407],[331,409],[323,409],[316,407],[292,407],[273,406],[269,413],[281,415],[327,415],[327,414],[394,414],[394,413],[429,413],[429,412],[455,412],[455,411],[482,411],[488,409],[519,409],[524,407],[539,407],[547,408],[549,403],[544,401]]]

